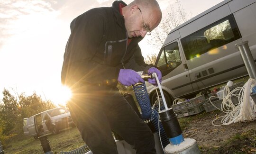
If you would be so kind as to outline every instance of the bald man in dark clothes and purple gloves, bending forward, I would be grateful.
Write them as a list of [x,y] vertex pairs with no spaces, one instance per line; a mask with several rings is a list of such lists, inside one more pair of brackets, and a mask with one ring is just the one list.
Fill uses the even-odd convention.
[[[118,154],[111,130],[134,145],[137,154],[155,154],[154,136],[116,88],[144,80],[138,71],[161,72],[146,64],[138,42],[158,26],[162,13],[155,0],[91,9],[71,23],[62,83],[73,91],[68,103],[82,139],[93,154]],[[148,82],[156,85],[155,79]]]

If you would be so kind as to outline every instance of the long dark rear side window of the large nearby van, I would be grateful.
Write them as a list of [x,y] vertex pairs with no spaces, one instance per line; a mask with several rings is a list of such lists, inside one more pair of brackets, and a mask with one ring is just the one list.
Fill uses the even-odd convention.
[[241,38],[231,14],[181,39],[187,60]]

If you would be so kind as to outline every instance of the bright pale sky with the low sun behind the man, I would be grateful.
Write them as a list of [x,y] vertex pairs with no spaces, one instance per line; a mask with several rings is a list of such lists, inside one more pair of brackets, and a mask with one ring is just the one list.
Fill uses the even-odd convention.
[[[2,91],[11,94],[35,91],[43,100],[64,104],[61,68],[73,18],[96,7],[109,7],[114,0],[0,0],[0,102]],[[127,4],[132,0],[123,0]],[[163,15],[176,0],[157,0]],[[180,0],[194,17],[223,0]],[[143,56],[157,53],[139,43]],[[154,51],[153,51],[153,50]]]

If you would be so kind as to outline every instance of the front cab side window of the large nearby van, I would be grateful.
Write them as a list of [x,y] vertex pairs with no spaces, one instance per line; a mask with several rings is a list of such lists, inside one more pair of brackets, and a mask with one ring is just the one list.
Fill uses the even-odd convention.
[[161,71],[167,71],[163,72],[163,75],[171,72],[181,64],[181,56],[177,42],[164,46],[160,52],[161,54],[156,61],[156,66],[159,67]]

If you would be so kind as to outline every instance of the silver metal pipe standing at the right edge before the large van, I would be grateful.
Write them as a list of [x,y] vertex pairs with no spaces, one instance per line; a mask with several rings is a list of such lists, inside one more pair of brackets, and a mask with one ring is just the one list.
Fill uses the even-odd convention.
[[253,78],[256,80],[256,65],[255,65],[252,53],[250,51],[248,41],[238,43],[236,44],[236,46],[238,46],[238,49],[241,53],[241,56],[243,58],[243,61],[245,63],[245,66],[250,78]]

